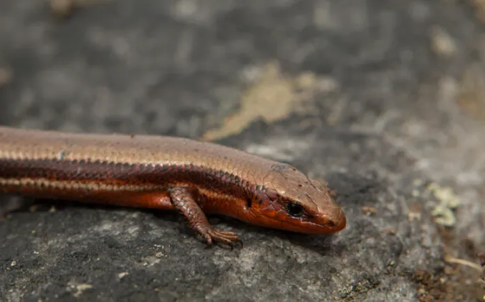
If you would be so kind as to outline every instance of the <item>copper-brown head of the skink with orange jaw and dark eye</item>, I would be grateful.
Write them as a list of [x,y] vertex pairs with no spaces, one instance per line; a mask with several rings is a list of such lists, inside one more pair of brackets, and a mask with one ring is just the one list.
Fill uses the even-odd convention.
[[347,219],[330,190],[291,165],[273,165],[255,201],[259,224],[299,233],[326,234],[345,228]]

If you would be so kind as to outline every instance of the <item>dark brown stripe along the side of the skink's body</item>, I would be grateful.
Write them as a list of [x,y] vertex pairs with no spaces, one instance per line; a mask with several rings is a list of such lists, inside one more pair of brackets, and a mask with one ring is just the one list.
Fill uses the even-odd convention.
[[[194,165],[150,165],[89,160],[0,159],[0,178],[99,181],[124,185],[186,183],[242,199],[260,200],[264,189],[228,172]],[[251,206],[251,203],[248,202]]]

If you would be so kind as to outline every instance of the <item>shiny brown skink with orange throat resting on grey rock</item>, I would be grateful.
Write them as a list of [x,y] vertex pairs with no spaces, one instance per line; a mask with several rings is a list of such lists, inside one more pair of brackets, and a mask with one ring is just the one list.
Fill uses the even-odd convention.
[[347,224],[326,185],[291,165],[182,137],[0,127],[0,192],[177,210],[208,244],[239,241],[208,214],[308,234]]

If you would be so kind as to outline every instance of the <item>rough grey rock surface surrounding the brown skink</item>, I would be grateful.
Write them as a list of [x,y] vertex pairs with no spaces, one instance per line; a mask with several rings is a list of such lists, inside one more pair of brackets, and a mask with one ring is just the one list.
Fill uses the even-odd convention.
[[482,1],[89,2],[1,1],[0,124],[209,137],[325,178],[349,225],[212,217],[230,251],[174,213],[43,201],[0,221],[1,301],[482,299]]

